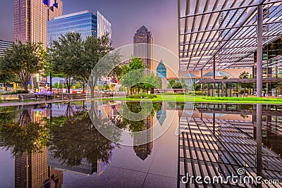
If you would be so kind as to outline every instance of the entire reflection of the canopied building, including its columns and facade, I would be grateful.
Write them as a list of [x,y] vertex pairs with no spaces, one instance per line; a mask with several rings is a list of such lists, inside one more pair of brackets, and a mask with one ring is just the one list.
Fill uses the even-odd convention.
[[[200,104],[191,120],[180,118],[180,126],[187,126],[180,134],[180,176],[188,173],[190,176],[202,177],[222,176],[237,173],[238,168],[245,168],[246,174],[254,179],[257,177],[258,166],[262,167],[264,179],[282,180],[281,144],[279,148],[271,149],[269,142],[281,142],[281,134],[270,141],[268,135],[274,129],[262,130],[262,152],[257,151],[257,125],[255,123],[256,106],[243,106],[234,104]],[[271,111],[271,106],[264,106],[262,117],[278,115]],[[245,113],[243,113],[243,111]],[[216,115],[227,114],[227,115]],[[217,116],[217,117],[216,117]],[[266,124],[270,118],[265,118]],[[281,119],[281,118],[279,118]],[[263,123],[264,125],[264,123]],[[281,126],[281,124],[276,126]],[[270,128],[269,128],[270,129]],[[265,131],[265,133],[264,133]],[[264,138],[268,137],[268,139]],[[268,143],[268,144],[266,144]],[[270,144],[270,145],[271,145]],[[258,163],[262,158],[262,163]],[[248,184],[229,184],[236,187],[248,187]]]

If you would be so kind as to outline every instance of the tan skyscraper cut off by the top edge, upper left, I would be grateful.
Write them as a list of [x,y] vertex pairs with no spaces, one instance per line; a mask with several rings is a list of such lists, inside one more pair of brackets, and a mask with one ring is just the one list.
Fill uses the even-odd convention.
[[47,47],[47,21],[63,14],[61,0],[14,0],[14,36]]

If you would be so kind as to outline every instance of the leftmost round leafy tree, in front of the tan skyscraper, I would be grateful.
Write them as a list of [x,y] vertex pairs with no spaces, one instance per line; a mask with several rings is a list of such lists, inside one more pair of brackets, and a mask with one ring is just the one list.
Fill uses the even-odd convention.
[[4,57],[0,61],[1,72],[16,75],[23,88],[27,90],[32,74],[43,70],[46,58],[47,53],[40,43],[23,44],[18,41],[12,44],[11,49],[4,51]]

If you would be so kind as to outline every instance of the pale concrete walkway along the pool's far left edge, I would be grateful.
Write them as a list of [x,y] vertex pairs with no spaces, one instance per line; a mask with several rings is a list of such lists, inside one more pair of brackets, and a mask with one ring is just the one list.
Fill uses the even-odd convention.
[[64,103],[64,102],[73,102],[73,101],[85,101],[86,99],[53,99],[51,101],[30,101],[30,102],[16,102],[16,103],[2,103],[0,107],[6,106],[28,106],[36,104],[47,104],[47,103]]

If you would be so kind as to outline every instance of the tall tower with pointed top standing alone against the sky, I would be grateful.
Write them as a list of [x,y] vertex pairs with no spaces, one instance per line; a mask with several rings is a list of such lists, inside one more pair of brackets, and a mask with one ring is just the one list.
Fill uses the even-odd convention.
[[[134,51],[133,56],[142,58],[146,68],[153,69],[153,37],[152,33],[143,25],[136,31],[133,37]],[[144,45],[147,44],[147,45]]]

